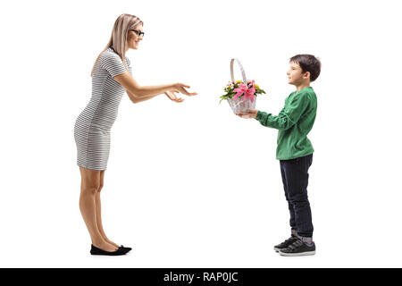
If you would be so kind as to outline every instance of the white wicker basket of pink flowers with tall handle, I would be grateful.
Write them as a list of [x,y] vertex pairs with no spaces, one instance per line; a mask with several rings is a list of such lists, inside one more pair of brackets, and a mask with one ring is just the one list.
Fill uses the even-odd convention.
[[[239,63],[243,81],[234,80],[234,61]],[[231,59],[230,61],[230,76],[231,82],[229,82],[229,84],[223,88],[226,94],[221,97],[221,101],[219,103],[221,103],[223,99],[227,99],[234,114],[247,113],[247,109],[255,109],[256,96],[265,93],[265,91],[255,84],[255,80],[246,79],[246,73],[243,69],[243,66],[237,59]]]

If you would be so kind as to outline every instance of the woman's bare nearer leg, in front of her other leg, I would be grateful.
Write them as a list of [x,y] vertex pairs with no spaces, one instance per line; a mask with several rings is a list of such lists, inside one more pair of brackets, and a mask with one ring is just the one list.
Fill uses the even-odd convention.
[[81,192],[80,192],[80,211],[85,224],[87,225],[92,244],[96,248],[105,251],[114,251],[113,245],[105,241],[99,232],[96,224],[96,192],[100,186],[100,171],[89,170],[80,167],[81,173]]

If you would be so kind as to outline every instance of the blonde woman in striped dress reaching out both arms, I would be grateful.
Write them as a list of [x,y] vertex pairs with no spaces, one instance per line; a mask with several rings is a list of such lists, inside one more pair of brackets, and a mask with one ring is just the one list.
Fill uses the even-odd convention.
[[[136,104],[165,94],[172,101],[182,102],[175,92],[187,96],[189,86],[182,83],[140,86],[131,76],[130,60],[125,53],[138,49],[143,39],[143,22],[138,17],[122,14],[114,22],[112,37],[98,55],[92,68],[92,97],[77,118],[74,138],[77,144],[77,164],[80,166],[80,212],[92,240],[92,255],[119,256],[130,251],[109,240],[102,226],[100,191],[109,157],[110,130],[117,117],[124,91]],[[124,61],[122,61],[124,59]]]

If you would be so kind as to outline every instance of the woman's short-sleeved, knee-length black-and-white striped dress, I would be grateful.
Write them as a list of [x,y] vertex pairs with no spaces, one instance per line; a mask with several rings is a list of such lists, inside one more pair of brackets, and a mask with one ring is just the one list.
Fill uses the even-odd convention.
[[[130,60],[125,58],[131,74]],[[110,151],[110,130],[116,120],[125,88],[113,79],[127,71],[112,47],[96,62],[92,74],[92,97],[74,125],[77,164],[92,170],[106,170]]]

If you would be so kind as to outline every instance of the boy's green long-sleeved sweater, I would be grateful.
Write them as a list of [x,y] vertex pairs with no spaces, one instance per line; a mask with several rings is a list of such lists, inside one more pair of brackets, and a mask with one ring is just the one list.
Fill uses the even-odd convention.
[[307,134],[313,128],[316,113],[317,97],[313,88],[307,87],[292,92],[277,116],[258,111],[255,119],[278,130],[276,158],[289,160],[314,152]]

